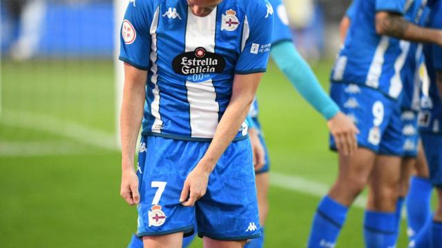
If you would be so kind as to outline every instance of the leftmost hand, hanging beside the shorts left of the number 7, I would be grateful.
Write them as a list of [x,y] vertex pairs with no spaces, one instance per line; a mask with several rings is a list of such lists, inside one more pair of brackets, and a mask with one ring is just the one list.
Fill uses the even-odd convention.
[[133,168],[122,171],[122,187],[119,194],[126,203],[133,206],[140,203],[140,193],[138,193],[138,176]]

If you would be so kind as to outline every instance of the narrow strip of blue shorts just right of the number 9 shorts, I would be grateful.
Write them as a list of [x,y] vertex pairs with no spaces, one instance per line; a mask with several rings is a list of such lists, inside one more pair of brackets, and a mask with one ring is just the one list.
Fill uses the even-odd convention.
[[417,116],[418,113],[413,110],[402,110],[403,157],[416,158],[417,156],[419,143]]

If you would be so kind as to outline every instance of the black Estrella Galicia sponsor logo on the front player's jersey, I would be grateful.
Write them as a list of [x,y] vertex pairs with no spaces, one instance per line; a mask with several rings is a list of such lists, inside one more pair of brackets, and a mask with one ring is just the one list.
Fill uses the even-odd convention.
[[224,71],[226,61],[204,48],[196,48],[193,52],[184,52],[172,61],[173,70],[177,74],[191,75],[200,73],[220,73]]

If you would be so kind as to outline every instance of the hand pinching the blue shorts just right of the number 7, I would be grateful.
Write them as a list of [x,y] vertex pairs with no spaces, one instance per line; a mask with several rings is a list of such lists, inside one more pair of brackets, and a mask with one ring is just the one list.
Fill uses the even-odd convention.
[[189,173],[184,181],[184,187],[180,196],[180,203],[183,206],[190,207],[206,194],[207,183],[209,183],[210,172],[207,172],[203,160]]

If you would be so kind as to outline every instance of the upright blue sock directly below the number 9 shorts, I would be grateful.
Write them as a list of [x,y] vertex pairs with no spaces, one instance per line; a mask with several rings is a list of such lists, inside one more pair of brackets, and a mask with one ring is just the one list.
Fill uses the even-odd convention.
[[366,248],[394,247],[396,213],[365,210],[364,239]]

